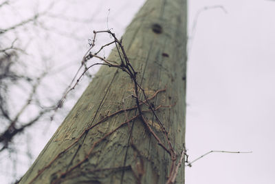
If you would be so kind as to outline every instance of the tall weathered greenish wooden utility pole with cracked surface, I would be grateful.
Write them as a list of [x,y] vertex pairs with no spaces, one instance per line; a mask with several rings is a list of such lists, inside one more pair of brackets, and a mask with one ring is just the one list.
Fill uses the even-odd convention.
[[186,6],[146,1],[122,39],[132,77],[102,66],[19,183],[184,183]]

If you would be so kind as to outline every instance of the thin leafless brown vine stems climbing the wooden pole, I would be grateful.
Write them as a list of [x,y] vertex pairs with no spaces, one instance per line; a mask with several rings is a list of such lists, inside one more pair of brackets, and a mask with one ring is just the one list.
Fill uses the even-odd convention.
[[[94,48],[94,46],[95,46],[96,35],[100,34],[100,33],[110,34],[111,37],[113,38],[113,41],[111,41],[110,43],[107,43],[107,44],[103,45],[97,52],[95,52],[93,54],[91,52],[91,49]],[[74,145],[76,145],[77,143],[79,143],[80,139],[83,136],[85,136],[89,132],[89,130],[93,129],[97,125],[100,125],[104,121],[107,121],[108,119],[110,119],[115,114],[120,114],[122,112],[125,112],[125,114],[126,114],[126,112],[129,112],[131,110],[137,110],[138,114],[136,114],[135,116],[133,116],[131,118],[128,118],[128,116],[125,115],[126,116],[126,121],[124,121],[123,123],[120,123],[120,125],[118,125],[118,127],[115,127],[115,129],[111,130],[111,132],[108,132],[101,139],[99,139],[98,141],[94,142],[93,145],[91,145],[91,148],[89,149],[89,151],[87,152],[87,154],[85,155],[85,158],[83,160],[79,161],[78,163],[76,163],[76,165],[73,165],[72,167],[68,167],[68,169],[65,172],[59,173],[58,177],[55,178],[54,181],[52,181],[52,183],[60,183],[60,181],[62,180],[62,178],[65,178],[65,176],[67,176],[67,174],[69,174],[70,172],[72,172],[73,170],[75,170],[77,167],[80,167],[80,165],[82,165],[83,163],[85,163],[85,161],[87,161],[89,159],[89,157],[91,156],[91,154],[93,154],[94,148],[96,146],[98,146],[99,143],[101,143],[102,141],[104,141],[104,139],[106,139],[108,136],[110,136],[111,134],[113,134],[113,132],[117,131],[118,129],[120,129],[124,125],[129,125],[129,123],[131,123],[131,121],[133,121],[133,120],[135,120],[137,118],[139,118],[142,121],[142,123],[144,124],[144,127],[146,128],[146,130],[148,130],[148,132],[151,135],[153,135],[153,137],[157,141],[157,144],[160,147],[162,147],[165,150],[165,152],[167,152],[170,155],[170,159],[171,159],[170,174],[168,176],[168,180],[167,180],[166,183],[167,184],[175,183],[175,178],[177,176],[177,172],[179,170],[179,166],[181,165],[182,160],[184,159],[184,155],[187,155],[186,154],[186,149],[184,148],[184,151],[182,151],[181,157],[180,157],[180,159],[179,159],[179,161],[177,163],[177,159],[178,159],[177,158],[177,154],[176,154],[176,152],[175,152],[175,150],[173,148],[172,143],[170,142],[170,139],[168,137],[168,132],[166,131],[166,128],[164,127],[164,123],[162,123],[162,121],[159,120],[157,114],[155,113],[160,108],[171,108],[171,107],[173,107],[173,105],[158,105],[157,107],[152,107],[151,103],[149,103],[149,100],[151,100],[155,96],[157,96],[157,94],[159,92],[166,91],[166,89],[157,90],[155,92],[155,94],[153,94],[153,96],[151,96],[151,97],[148,97],[146,95],[144,89],[141,87],[141,85],[139,83],[137,83],[137,72],[134,70],[133,66],[131,65],[131,63],[130,63],[127,55],[126,55],[126,52],[125,52],[124,47],[122,45],[122,40],[117,39],[115,37],[115,34],[113,32],[111,32],[111,30],[94,31],[94,39],[89,40],[89,42],[90,42],[89,43],[90,48],[85,53],[85,55],[83,57],[83,60],[81,62],[81,66],[78,69],[78,72],[74,76],[74,79],[73,79],[72,83],[69,85],[69,87],[67,88],[66,92],[63,94],[63,97],[62,97],[62,99],[61,99],[61,101],[60,101],[60,103],[59,103],[58,106],[59,107],[62,106],[62,103],[63,103],[63,101],[65,101],[65,98],[66,98],[67,94],[71,90],[74,90],[74,88],[76,87],[76,85],[78,84],[78,82],[80,81],[80,79],[85,75],[85,73],[87,72],[87,70],[89,70],[89,68],[93,67],[94,65],[107,65],[107,66],[112,67],[112,68],[118,68],[122,72],[125,72],[126,74],[128,74],[128,76],[131,78],[131,81],[134,84],[134,89],[133,89],[134,90],[134,94],[132,94],[131,96],[135,99],[135,105],[133,107],[131,107],[131,108],[124,108],[124,109],[118,110],[116,112],[113,112],[112,114],[106,114],[97,123],[94,123],[93,125],[91,125],[89,127],[86,127],[85,130],[83,130],[83,132],[78,136],[78,138],[71,143],[71,145],[69,145],[67,148],[65,148],[65,150],[61,151],[59,154],[57,154],[54,157],[54,159],[52,159],[52,161],[50,161],[50,163],[48,163],[47,165],[45,165],[45,167],[43,167],[41,170],[39,170],[39,172],[36,174],[36,176],[34,176],[34,178],[32,178],[32,181],[30,181],[30,183],[34,183],[34,181],[39,176],[41,176],[41,174],[43,172],[45,172],[45,170],[47,170],[47,168],[49,168],[58,158],[60,158],[63,154],[65,154],[65,152],[67,152],[69,149],[71,149]],[[105,47],[107,47],[109,45],[113,45],[113,44],[115,44],[115,48],[118,51],[118,55],[119,55],[119,58],[120,58],[120,63],[115,62],[115,61],[109,61],[109,60],[105,59],[104,57],[98,56],[98,54],[100,53],[100,51],[102,51]],[[93,58],[100,59],[102,61],[102,63],[94,63],[94,64],[92,64],[92,65],[90,65],[88,67],[87,66],[87,61],[89,61],[90,59],[93,59]],[[85,70],[77,78],[78,73],[80,72],[80,69],[83,68],[83,66],[85,67]],[[73,83],[74,83],[74,85],[73,85]],[[140,90],[142,91],[142,94],[144,96],[144,99],[145,99],[144,101],[140,100],[140,97],[139,97],[139,91]],[[141,108],[142,105],[148,106],[149,110],[142,110],[142,108]],[[159,127],[161,127],[161,130],[164,133],[164,136],[165,136],[165,139],[166,139],[166,143],[168,144],[168,147],[166,147],[166,145],[164,144],[164,142],[161,139],[159,139],[159,136],[157,136],[157,134],[155,134],[155,132],[153,131],[151,125],[149,125],[148,121],[146,120],[144,114],[148,113],[148,112],[151,112],[153,114],[153,116],[155,116],[155,119],[157,120],[157,123],[159,124]],[[138,150],[135,147],[135,145],[133,145],[133,141],[131,141],[131,147],[135,148],[134,150],[136,152],[138,152]],[[144,174],[143,161],[140,160],[139,163],[142,163],[142,164],[137,164],[137,166],[136,166],[138,174],[133,173],[134,176],[135,176],[135,178],[137,179],[137,183],[141,183],[141,178],[142,178],[142,175]],[[108,168],[105,168],[104,170],[108,170]],[[110,168],[110,170],[111,170],[111,168]],[[100,171],[100,170],[95,170],[95,171]]]

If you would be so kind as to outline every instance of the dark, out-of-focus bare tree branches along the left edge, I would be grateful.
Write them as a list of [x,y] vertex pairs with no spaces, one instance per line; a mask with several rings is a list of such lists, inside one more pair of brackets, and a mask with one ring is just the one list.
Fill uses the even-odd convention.
[[[0,4],[0,8],[4,5],[10,4],[10,1],[4,1]],[[11,5],[12,6],[12,5]],[[9,26],[8,28],[0,29],[0,37],[5,39],[10,39],[10,32],[18,31],[23,26],[27,26],[31,22],[36,22],[41,16],[47,14],[50,9],[54,6],[54,1],[50,3],[50,6],[43,12],[35,13],[32,17],[25,19],[19,23]],[[21,57],[24,54],[26,48],[21,46],[15,46],[16,42],[21,41],[20,37],[13,39],[12,43],[9,41],[3,41],[0,44],[0,119],[1,119],[1,129],[0,129],[0,152],[8,148],[9,143],[12,142],[15,136],[23,132],[27,127],[30,127],[34,123],[38,122],[41,117],[47,112],[51,112],[54,108],[41,108],[43,105],[40,103],[35,104],[39,112],[37,114],[32,114],[33,117],[29,118],[25,123],[21,122],[23,114],[28,111],[30,105],[34,105],[34,99],[37,99],[37,89],[41,84],[41,80],[46,76],[47,71],[42,72],[40,76],[30,76],[28,72],[19,72],[18,68],[23,66],[23,61]],[[17,44],[19,45],[19,44]],[[26,88],[30,88],[28,94],[28,99],[16,112],[16,109],[10,104],[10,99],[16,99],[17,96],[12,94],[12,86],[20,87],[20,83],[27,85]],[[25,88],[25,87],[24,87]],[[23,90],[28,93],[28,90]],[[38,100],[36,100],[37,103]],[[20,106],[20,105],[19,105]],[[54,106],[54,105],[53,105]]]

